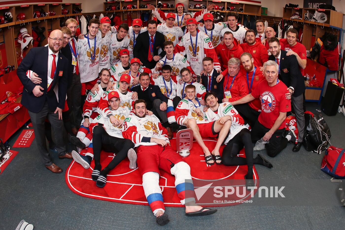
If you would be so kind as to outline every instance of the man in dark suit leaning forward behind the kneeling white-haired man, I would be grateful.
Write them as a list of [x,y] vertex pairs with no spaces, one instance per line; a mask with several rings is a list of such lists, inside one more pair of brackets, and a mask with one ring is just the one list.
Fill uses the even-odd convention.
[[[296,114],[298,143],[293,147],[292,151],[298,152],[303,143],[305,127],[303,111],[304,78],[299,70],[296,56],[286,56],[287,52],[280,49],[281,47],[277,38],[269,38],[268,46],[272,54],[268,60],[273,60],[279,65],[279,79],[288,86],[289,93],[286,94],[286,98],[291,98],[291,103]],[[291,134],[293,135],[294,133],[291,132]]]

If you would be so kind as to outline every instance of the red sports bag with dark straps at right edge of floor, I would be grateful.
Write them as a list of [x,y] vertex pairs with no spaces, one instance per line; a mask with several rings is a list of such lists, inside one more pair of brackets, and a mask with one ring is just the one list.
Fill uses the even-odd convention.
[[345,149],[329,146],[321,163],[321,170],[336,179],[345,179]]

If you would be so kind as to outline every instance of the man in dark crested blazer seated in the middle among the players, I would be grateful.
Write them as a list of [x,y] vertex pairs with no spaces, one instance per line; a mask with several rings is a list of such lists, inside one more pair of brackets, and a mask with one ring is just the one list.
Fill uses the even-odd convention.
[[[146,108],[159,118],[162,126],[168,131],[169,139],[171,139],[172,131],[167,117],[168,98],[161,93],[159,86],[150,84],[148,73],[144,72],[139,75],[139,83],[140,85],[132,88],[132,92],[138,93],[138,99],[145,100]],[[176,122],[175,125],[177,126]]]

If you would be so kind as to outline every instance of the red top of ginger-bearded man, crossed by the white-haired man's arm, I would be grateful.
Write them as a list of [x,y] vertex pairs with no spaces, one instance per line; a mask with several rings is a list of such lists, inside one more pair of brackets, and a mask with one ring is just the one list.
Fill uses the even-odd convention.
[[[253,71],[248,73],[248,80],[247,80],[247,71],[244,68],[241,68],[241,70],[240,70],[240,71],[242,71],[242,74],[245,78],[248,93],[253,92],[257,88],[259,82],[261,82],[263,80],[266,81],[265,76],[263,75],[262,71],[260,71],[260,67],[258,67],[258,66],[255,66],[255,67],[256,67],[256,70],[255,70],[253,84],[251,83],[252,77],[253,77]],[[250,88],[250,86],[251,86],[251,88]],[[248,102],[248,105],[250,108],[252,108],[256,111],[261,111],[261,102],[259,99],[254,99],[251,102]]]

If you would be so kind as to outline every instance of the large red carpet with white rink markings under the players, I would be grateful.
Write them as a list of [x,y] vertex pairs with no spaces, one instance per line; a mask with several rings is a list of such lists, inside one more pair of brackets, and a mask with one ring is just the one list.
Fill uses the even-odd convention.
[[[216,145],[214,139],[204,139],[206,146],[209,150],[213,150]],[[176,150],[176,139],[170,140],[172,148]],[[148,146],[149,148],[149,146]],[[223,147],[221,148],[221,152]],[[244,155],[244,150],[240,152]],[[101,165],[105,167],[112,160],[112,154],[102,152]],[[196,141],[193,143],[193,149],[190,151],[190,155],[185,158],[186,162],[190,165],[191,175],[193,179],[243,179],[247,173],[247,166],[225,166],[211,165],[207,166],[205,163],[205,157],[201,147]],[[131,170],[128,167],[129,160],[123,160],[114,170],[110,171],[107,176],[107,184],[104,188],[98,188],[96,182],[91,179],[91,172],[94,166],[93,161],[89,169],[84,169],[80,164],[72,161],[68,169],[66,170],[66,183],[72,192],[81,195],[83,197],[113,201],[119,203],[129,204],[141,204],[148,205],[144,190],[142,189],[142,180],[139,170]],[[177,196],[175,189],[174,176],[161,171],[161,178],[159,185],[162,189],[164,204],[171,207],[183,207],[180,203],[180,199]],[[258,186],[258,174],[254,167],[254,179],[256,179],[256,186]],[[237,182],[237,181],[236,181]],[[211,183],[211,182],[210,182]],[[238,180],[238,183],[244,184],[244,180]],[[205,183],[205,185],[208,183]],[[242,191],[242,190],[241,190]],[[254,191],[254,193],[256,190]],[[250,192],[246,191],[244,198],[238,198],[238,200],[248,200],[250,198]],[[234,199],[232,197],[231,199]],[[237,198],[236,198],[237,199]],[[236,200],[235,199],[235,200]],[[229,198],[230,200],[230,198]],[[198,202],[197,202],[198,203]],[[239,203],[228,203],[226,205],[236,205]],[[224,206],[224,204],[215,204],[207,206]]]

